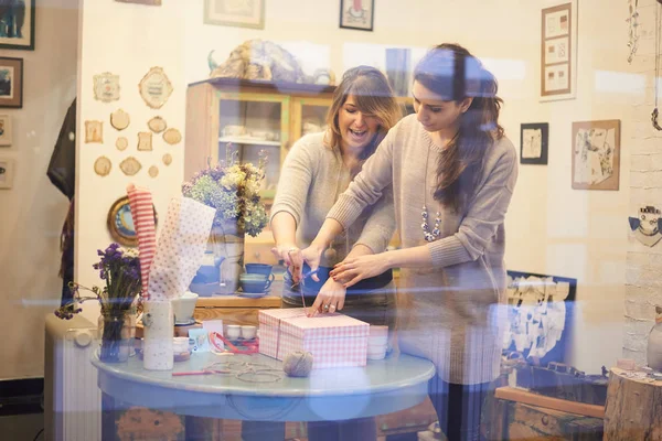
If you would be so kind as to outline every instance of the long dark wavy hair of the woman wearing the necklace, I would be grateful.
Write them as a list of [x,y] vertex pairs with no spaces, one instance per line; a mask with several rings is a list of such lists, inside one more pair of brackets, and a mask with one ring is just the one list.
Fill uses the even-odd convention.
[[416,65],[414,80],[447,100],[471,97],[460,116],[460,129],[437,163],[435,200],[460,213],[467,208],[482,169],[487,150],[503,137],[496,96],[496,78],[459,44],[445,43],[430,50]]

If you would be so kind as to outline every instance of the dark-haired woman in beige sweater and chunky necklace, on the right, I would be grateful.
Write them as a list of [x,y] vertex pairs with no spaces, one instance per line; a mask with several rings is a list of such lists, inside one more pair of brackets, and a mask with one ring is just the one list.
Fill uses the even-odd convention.
[[[416,115],[388,132],[303,257],[314,269],[329,238],[393,184],[403,248],[348,258],[331,276],[351,287],[402,268],[399,348],[435,363],[429,394],[448,439],[478,440],[482,401],[499,374],[516,153],[499,126],[496,80],[466,49],[429,51],[414,71],[413,96]],[[311,310],[334,310],[340,300],[322,289]]]

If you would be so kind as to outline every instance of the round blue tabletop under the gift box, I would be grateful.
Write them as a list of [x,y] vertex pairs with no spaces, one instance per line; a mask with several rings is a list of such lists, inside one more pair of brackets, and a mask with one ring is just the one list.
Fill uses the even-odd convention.
[[249,362],[281,369],[261,354],[194,354],[172,372],[146,370],[138,357],[107,364],[94,358],[102,391],[132,406],[194,417],[260,421],[320,421],[373,417],[410,408],[427,397],[431,362],[401,354],[364,367],[314,369],[308,378],[246,383],[234,375],[172,376],[214,362]]

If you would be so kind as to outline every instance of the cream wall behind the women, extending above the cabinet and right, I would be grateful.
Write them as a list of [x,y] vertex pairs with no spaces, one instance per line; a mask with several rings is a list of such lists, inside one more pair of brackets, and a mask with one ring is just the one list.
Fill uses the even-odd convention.
[[[567,101],[538,100],[541,9],[546,3],[522,0],[410,0],[406,8],[401,1],[381,0],[374,32],[340,29],[335,1],[267,2],[265,30],[256,31],[201,24],[203,1],[195,0],[186,10],[185,79],[207,77],[211,50],[221,63],[235,46],[257,37],[296,51],[309,73],[325,62],[337,76],[359,63],[383,67],[384,47],[466,45],[500,79],[502,123],[517,148],[520,123],[549,122],[548,165],[520,168],[506,223],[508,267],[578,279],[568,356],[578,368],[597,373],[621,356],[630,103],[642,93],[641,78],[627,63],[627,4],[607,3],[579,2],[577,98]],[[298,42],[308,42],[308,47]],[[572,122],[598,119],[622,122],[619,192],[570,186]]]

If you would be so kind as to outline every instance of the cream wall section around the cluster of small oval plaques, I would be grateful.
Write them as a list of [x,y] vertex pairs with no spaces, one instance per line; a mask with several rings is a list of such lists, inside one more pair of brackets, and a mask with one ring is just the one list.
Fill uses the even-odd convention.
[[[126,195],[126,186],[135,183],[152,191],[157,212],[166,215],[168,203],[181,194],[183,180],[183,141],[167,144],[161,137],[152,138],[152,151],[137,151],[138,132],[148,131],[147,121],[161,116],[168,127],[178,128],[185,136],[185,80],[183,75],[184,28],[181,3],[164,1],[162,7],[119,3],[114,0],[82,0],[81,2],[81,53],[78,65],[78,128],[83,133],[85,120],[103,120],[104,143],[85,143],[78,137],[78,176],[76,181],[76,280],[85,286],[98,284],[97,271],[92,265],[98,261],[97,249],[113,241],[106,228],[106,216],[113,203]],[[148,107],[138,93],[138,84],[153,66],[163,67],[174,92],[161,109]],[[94,75],[111,72],[120,77],[120,99],[102,103],[94,99]],[[122,108],[130,115],[130,126],[118,132],[109,123],[110,112]],[[119,151],[115,141],[127,137],[129,148]],[[172,164],[166,166],[164,153],[172,154]],[[94,162],[106,155],[113,162],[107,176],[94,172]],[[119,163],[128,157],[140,161],[142,169],[134,176],[126,176]],[[151,165],[159,168],[152,179]],[[95,321],[98,305],[87,303],[84,315]]]

